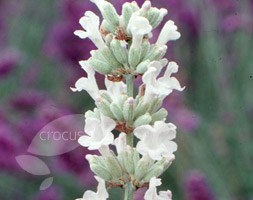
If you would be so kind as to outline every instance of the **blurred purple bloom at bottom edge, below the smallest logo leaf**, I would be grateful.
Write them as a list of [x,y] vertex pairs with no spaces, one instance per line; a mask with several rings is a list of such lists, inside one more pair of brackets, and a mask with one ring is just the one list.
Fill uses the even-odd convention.
[[35,200],[62,200],[62,192],[57,187],[50,187],[45,191],[40,191],[40,193],[33,198]]

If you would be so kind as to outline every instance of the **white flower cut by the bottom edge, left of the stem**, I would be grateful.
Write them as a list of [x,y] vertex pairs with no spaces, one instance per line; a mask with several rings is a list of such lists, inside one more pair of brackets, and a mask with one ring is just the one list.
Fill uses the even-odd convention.
[[82,200],[106,200],[109,197],[109,194],[105,187],[105,181],[98,176],[95,176],[98,181],[97,192],[88,190],[84,193]]

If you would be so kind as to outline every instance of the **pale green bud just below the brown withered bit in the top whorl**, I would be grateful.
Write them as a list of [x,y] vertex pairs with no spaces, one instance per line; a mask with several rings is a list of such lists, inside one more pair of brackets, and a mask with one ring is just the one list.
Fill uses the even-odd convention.
[[111,42],[111,50],[117,59],[118,62],[121,64],[127,63],[127,49],[122,44],[123,41],[113,39]]

